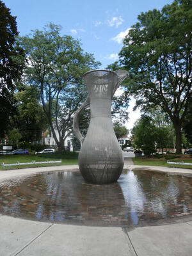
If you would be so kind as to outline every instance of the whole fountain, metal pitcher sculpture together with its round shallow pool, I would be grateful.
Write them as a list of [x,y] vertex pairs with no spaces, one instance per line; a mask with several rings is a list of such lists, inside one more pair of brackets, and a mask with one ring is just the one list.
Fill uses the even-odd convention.
[[[191,177],[168,176],[142,168],[123,170],[122,150],[111,123],[111,99],[126,76],[124,71],[110,70],[84,74],[89,95],[74,117],[74,131],[81,142],[81,173],[31,171],[32,174],[1,180],[0,214],[111,227],[192,220]],[[83,138],[79,116],[89,105],[90,127]]]

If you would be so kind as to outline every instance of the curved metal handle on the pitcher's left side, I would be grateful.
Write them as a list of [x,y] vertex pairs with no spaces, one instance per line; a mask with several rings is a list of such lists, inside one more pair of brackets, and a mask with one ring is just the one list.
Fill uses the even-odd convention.
[[84,137],[82,136],[81,132],[79,131],[79,118],[81,116],[81,113],[83,113],[84,109],[87,108],[90,105],[90,97],[86,97],[86,100],[83,102],[83,104],[77,109],[74,120],[73,120],[73,129],[74,134],[77,137],[77,140],[81,143],[81,146],[84,141]]

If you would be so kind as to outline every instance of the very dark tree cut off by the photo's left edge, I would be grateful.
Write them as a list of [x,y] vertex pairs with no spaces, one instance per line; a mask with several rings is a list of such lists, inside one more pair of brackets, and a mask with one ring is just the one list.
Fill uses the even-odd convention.
[[15,113],[13,92],[23,68],[24,52],[15,45],[17,31],[16,17],[0,1],[0,137],[4,137],[10,115]]

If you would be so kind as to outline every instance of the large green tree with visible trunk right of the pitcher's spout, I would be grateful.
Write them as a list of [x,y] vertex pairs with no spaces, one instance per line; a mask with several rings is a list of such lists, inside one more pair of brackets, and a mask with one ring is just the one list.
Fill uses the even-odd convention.
[[175,0],[161,11],[141,13],[120,51],[129,70],[126,93],[146,111],[160,106],[168,113],[181,152],[181,127],[191,99],[192,2]]

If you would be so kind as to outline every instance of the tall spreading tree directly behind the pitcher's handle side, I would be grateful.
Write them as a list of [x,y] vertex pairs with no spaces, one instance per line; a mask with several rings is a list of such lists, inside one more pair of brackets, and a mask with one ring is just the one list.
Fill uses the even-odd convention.
[[33,31],[31,38],[20,38],[20,45],[28,58],[26,79],[38,88],[54,140],[63,150],[74,112],[86,98],[82,75],[100,63],[83,52],[78,40],[60,36],[60,30],[61,26],[49,24],[44,31]]

